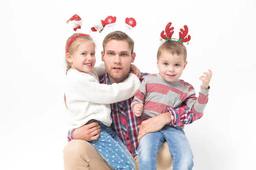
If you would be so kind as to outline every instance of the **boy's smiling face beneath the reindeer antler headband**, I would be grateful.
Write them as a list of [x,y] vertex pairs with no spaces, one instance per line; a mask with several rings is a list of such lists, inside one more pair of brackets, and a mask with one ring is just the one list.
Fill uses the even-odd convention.
[[157,68],[163,79],[173,82],[180,78],[182,71],[185,69],[187,62],[184,61],[183,54],[177,55],[163,51],[157,60]]

